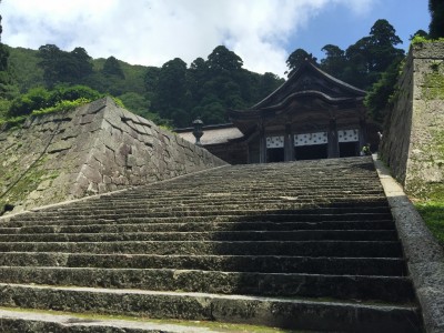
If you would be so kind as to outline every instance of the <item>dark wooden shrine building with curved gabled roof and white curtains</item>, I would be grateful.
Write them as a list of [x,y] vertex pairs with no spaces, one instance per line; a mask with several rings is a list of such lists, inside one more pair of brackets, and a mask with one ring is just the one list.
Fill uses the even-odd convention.
[[[305,61],[264,100],[229,110],[231,123],[203,127],[200,144],[232,164],[355,157],[369,142],[364,97]],[[192,132],[176,130],[194,143]]]

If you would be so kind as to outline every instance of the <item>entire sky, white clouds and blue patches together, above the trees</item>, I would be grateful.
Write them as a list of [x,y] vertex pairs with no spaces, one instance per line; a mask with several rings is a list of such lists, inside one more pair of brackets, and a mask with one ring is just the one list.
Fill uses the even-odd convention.
[[427,30],[426,0],[2,0],[2,42],[38,49],[52,43],[91,57],[144,65],[191,63],[220,44],[244,68],[283,77],[297,48],[323,58],[327,43],[346,49],[377,19],[404,41]]

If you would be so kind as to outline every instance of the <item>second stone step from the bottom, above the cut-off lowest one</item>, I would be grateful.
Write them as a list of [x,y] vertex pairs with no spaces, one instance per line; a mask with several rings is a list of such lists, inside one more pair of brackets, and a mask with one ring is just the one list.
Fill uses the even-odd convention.
[[205,293],[0,284],[1,306],[151,319],[220,321],[291,330],[422,332],[414,305]]

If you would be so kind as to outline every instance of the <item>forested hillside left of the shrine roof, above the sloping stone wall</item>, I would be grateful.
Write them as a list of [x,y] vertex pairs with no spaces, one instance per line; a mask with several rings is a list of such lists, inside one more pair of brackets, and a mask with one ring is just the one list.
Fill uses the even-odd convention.
[[7,50],[8,80],[0,105],[3,118],[32,111],[26,108],[50,107],[53,94],[65,94],[70,88],[78,98],[85,97],[87,90],[87,98],[117,97],[130,111],[161,124],[188,127],[196,117],[206,124],[221,123],[228,121],[228,108],[246,108],[283,82],[272,73],[243,69],[242,59],[222,46],[206,60],[198,58],[188,65],[175,58],[161,68],[132,65],[114,57],[92,59],[82,48],[68,52],[47,44],[39,50]]

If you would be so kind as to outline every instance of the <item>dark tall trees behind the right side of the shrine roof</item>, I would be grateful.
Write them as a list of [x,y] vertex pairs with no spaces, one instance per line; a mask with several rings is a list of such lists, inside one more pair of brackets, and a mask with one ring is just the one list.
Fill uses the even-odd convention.
[[[404,50],[396,47],[400,43],[402,40],[393,26],[387,20],[377,20],[369,36],[364,36],[346,50],[334,44],[324,46],[322,51],[325,58],[321,59],[319,67],[344,82],[370,90],[365,100],[370,117],[382,122],[395,93],[398,65],[404,59]],[[286,60],[290,74],[305,60],[315,62],[303,49],[291,53]]]

